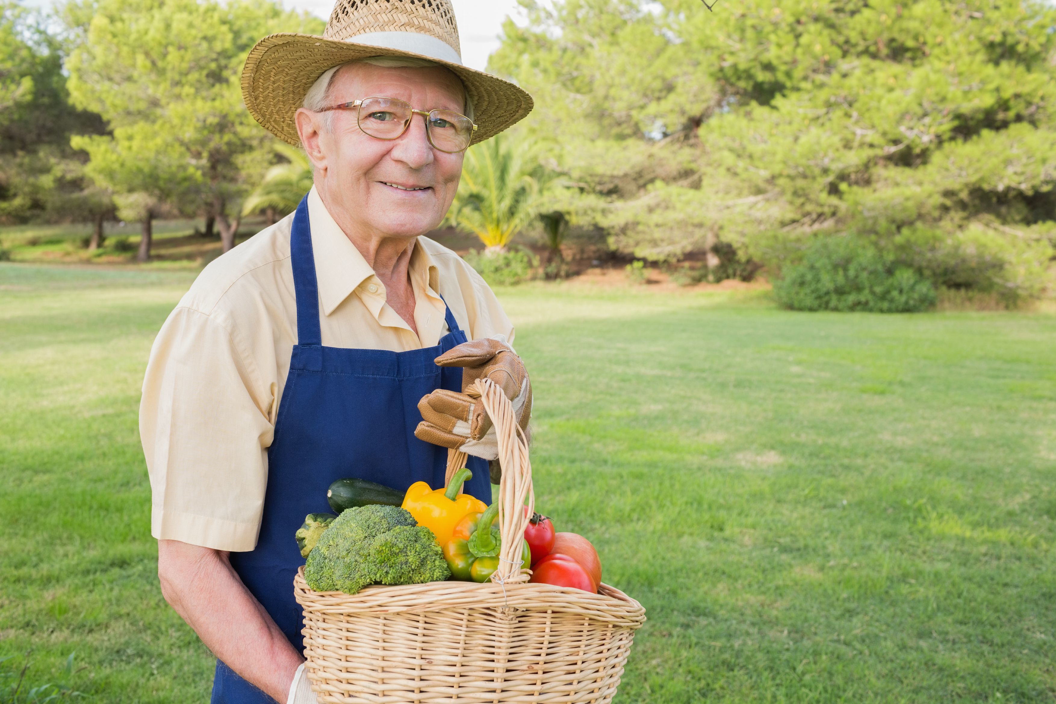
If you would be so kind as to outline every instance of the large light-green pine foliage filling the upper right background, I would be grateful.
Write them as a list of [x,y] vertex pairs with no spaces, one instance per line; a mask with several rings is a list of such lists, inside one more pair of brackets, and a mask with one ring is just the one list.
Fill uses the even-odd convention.
[[1056,242],[1051,4],[522,4],[491,68],[535,96],[526,131],[614,247],[721,240],[779,265],[853,230],[918,267],[996,257],[979,285],[1036,288],[1017,262]]

